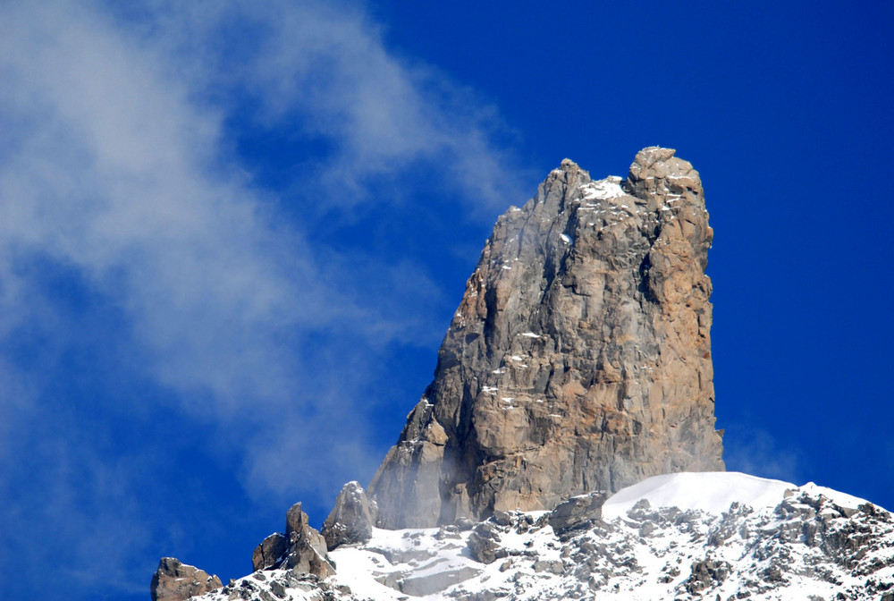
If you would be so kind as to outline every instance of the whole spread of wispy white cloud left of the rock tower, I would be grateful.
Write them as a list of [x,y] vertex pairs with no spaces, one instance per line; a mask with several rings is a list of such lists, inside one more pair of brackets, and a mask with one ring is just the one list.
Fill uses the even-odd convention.
[[[249,486],[328,491],[371,470],[371,357],[434,343],[441,293],[410,258],[384,264],[311,243],[316,224],[284,209],[348,210],[372,199],[367,185],[419,165],[438,185],[455,182],[467,215],[518,200],[490,141],[493,109],[396,58],[346,4],[6,3],[0,80],[0,346],[31,334],[42,349],[91,344],[55,296],[53,266],[122,316],[114,327],[125,330],[108,335],[131,345],[141,377],[169,391],[164,402],[226,433],[217,444],[240,449]],[[262,189],[236,150],[237,122],[322,140],[324,151],[293,159],[313,181],[286,182],[288,198]],[[404,192],[396,185],[393,198]],[[49,393],[37,373],[4,376],[18,359],[0,370],[0,458],[34,444],[60,489],[31,515],[105,544],[97,537],[136,519],[129,478],[151,465],[132,465],[139,451],[106,458],[82,423],[52,411],[45,431],[29,429],[34,414],[21,408],[46,410]],[[137,403],[129,396],[115,411]],[[63,473],[65,461],[90,466],[86,479]],[[0,487],[16,474],[5,470]],[[311,486],[311,474],[325,478]],[[79,481],[92,496],[72,497]],[[91,519],[109,505],[107,523]]]

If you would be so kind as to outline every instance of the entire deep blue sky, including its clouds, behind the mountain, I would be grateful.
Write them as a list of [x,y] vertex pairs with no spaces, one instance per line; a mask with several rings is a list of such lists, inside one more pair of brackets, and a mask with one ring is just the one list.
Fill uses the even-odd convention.
[[894,507],[894,5],[0,3],[0,579],[224,580],[366,483],[494,218],[701,172],[727,464]]

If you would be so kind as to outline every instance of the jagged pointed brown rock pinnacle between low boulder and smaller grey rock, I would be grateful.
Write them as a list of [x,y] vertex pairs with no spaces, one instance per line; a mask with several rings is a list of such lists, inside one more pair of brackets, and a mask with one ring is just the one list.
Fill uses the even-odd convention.
[[308,514],[301,504],[291,506],[285,517],[285,535],[272,534],[251,554],[251,563],[258,570],[291,570],[326,579],[335,573],[335,566],[326,553],[326,541],[310,527]]

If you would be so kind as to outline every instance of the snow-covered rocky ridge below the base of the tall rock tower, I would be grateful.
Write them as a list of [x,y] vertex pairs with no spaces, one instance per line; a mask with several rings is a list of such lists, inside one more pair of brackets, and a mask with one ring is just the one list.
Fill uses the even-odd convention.
[[602,519],[556,513],[374,529],[366,544],[331,552],[330,579],[257,571],[200,598],[894,599],[890,513],[813,484],[673,474],[611,496]]

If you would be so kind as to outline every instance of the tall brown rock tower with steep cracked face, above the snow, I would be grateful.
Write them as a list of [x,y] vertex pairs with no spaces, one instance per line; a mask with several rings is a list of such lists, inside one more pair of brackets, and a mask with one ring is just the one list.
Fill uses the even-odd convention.
[[723,470],[712,237],[698,173],[674,150],[640,151],[623,182],[562,161],[494,226],[434,381],[368,487],[378,525]]

